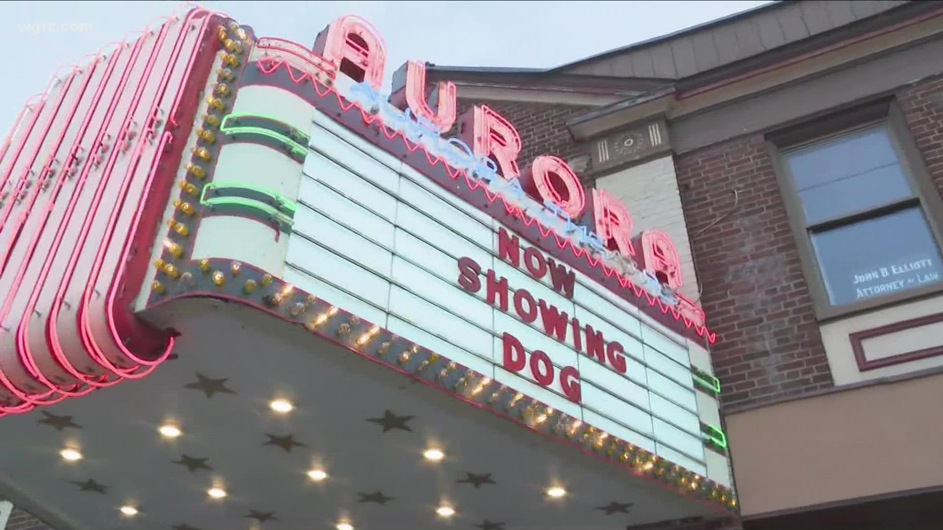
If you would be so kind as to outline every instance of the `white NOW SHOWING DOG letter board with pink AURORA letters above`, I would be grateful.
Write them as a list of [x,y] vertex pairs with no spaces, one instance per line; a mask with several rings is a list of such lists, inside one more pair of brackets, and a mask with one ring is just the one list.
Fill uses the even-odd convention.
[[[382,51],[366,23],[337,24],[358,28]],[[321,111],[306,134],[311,152],[281,277],[554,409],[704,470],[685,337],[713,336],[697,324],[703,314],[685,309],[674,292],[683,278],[670,239],[633,234],[624,205],[602,190],[585,194],[561,158],[538,157],[519,170],[513,126],[488,108],[455,118],[454,86],[425,90],[422,63],[406,63],[393,95],[382,96],[369,62],[378,57],[337,58],[354,83],[342,88],[342,75],[333,82],[359,112],[287,62],[260,58],[246,72],[243,96],[245,85],[278,87]],[[443,138],[455,123],[459,137]],[[405,149],[378,150],[365,140],[374,134]],[[265,172],[255,158],[238,165]]]

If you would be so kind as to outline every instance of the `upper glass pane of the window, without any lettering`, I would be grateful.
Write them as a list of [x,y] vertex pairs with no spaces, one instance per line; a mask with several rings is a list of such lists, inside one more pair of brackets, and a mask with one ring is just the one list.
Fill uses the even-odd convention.
[[884,124],[788,152],[786,165],[806,224],[913,194]]

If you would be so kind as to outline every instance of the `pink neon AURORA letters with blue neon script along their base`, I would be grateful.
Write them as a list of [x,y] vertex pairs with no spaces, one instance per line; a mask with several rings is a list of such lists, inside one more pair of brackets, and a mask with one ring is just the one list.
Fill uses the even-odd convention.
[[[457,119],[457,137],[443,138],[456,122],[455,84],[439,82],[430,89],[424,64],[411,60],[394,75],[392,94],[383,95],[379,91],[386,60],[383,41],[372,25],[354,15],[328,25],[314,49],[339,65],[340,74],[356,81],[349,98],[380,114],[384,124],[485,181],[489,190],[527,207],[528,214],[547,225],[562,225],[563,235],[628,273],[664,303],[677,306],[692,323],[703,325],[700,307],[676,292],[684,281],[670,237],[660,230],[633,237],[628,208],[606,190],[592,190],[585,196],[579,177],[562,158],[538,156],[521,172],[521,137],[501,113],[484,105],[472,106]],[[525,197],[537,201],[536,207],[529,207]],[[584,214],[594,232],[573,222]]]

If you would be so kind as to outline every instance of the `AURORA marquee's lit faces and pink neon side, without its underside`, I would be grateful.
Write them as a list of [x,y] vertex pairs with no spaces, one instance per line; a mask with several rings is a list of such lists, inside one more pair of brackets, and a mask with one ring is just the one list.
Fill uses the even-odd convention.
[[[422,62],[384,94],[384,44],[362,19],[341,17],[309,49],[202,13],[70,77],[60,97],[76,116],[98,104],[90,96],[115,98],[63,122],[71,136],[52,148],[91,127],[91,152],[72,147],[68,167],[34,186],[24,154],[49,147],[33,132],[4,147],[0,413],[159,377],[168,358],[224,365],[240,352],[275,377],[273,359],[297,357],[316,379],[344,355],[708,512],[736,509],[715,335],[678,292],[664,232],[636,233],[631,212],[585,191],[560,157],[519,167],[513,124],[486,106],[457,115],[455,85],[427,86]],[[159,60],[141,62],[148,45]],[[219,53],[197,53],[207,47]],[[48,132],[62,117],[41,118]],[[41,194],[48,183],[61,194]],[[272,352],[236,339],[272,322],[295,330]],[[196,346],[216,337],[228,352]]]

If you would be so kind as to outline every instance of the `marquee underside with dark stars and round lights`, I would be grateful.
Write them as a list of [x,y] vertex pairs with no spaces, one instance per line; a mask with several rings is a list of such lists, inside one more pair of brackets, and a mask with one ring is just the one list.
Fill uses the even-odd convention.
[[[302,529],[340,521],[365,530],[615,530],[720,515],[256,308],[183,298],[146,317],[181,333],[176,358],[140,381],[0,422],[0,486],[60,530]],[[224,381],[216,392],[213,383],[188,388],[197,374]],[[294,410],[274,413],[276,397]],[[47,414],[71,416],[73,425],[59,430]],[[165,422],[183,435],[162,438]],[[63,461],[66,445],[84,458]],[[445,458],[423,459],[429,447]],[[207,458],[211,470],[174,463],[183,455]],[[318,483],[306,476],[316,466],[329,475]],[[90,479],[106,492],[83,490]],[[214,485],[228,496],[209,499]],[[552,486],[567,494],[548,497]],[[121,505],[141,512],[124,518]],[[455,515],[438,516],[440,505]],[[268,512],[277,519],[246,517]]]

